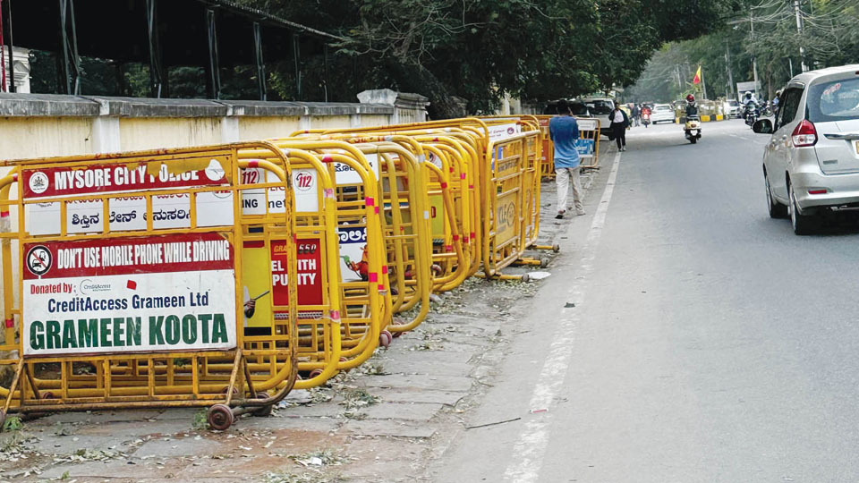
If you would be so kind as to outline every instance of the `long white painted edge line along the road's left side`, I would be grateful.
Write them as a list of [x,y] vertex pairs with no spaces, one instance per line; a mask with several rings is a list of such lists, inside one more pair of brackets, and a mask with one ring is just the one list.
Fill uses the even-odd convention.
[[[603,226],[606,223],[608,204],[615,190],[617,168],[619,165],[620,153],[618,152],[611,165],[611,172],[608,174],[606,191],[602,193],[600,206],[597,207],[597,211],[593,215],[591,228],[588,231],[588,236],[581,250],[582,262],[569,290],[568,300],[575,301],[576,307],[561,309],[557,332],[552,338],[552,345],[549,347],[549,356],[543,363],[540,376],[537,378],[537,386],[534,387],[534,393],[531,397],[530,407],[532,410],[550,409],[552,402],[564,385],[564,379],[566,379],[570,358],[572,357],[570,347],[572,347],[574,342],[575,328],[580,321],[578,314],[584,304],[584,289],[589,283],[588,278],[593,271],[593,260],[596,257],[597,247],[600,244]],[[558,303],[561,302],[558,301]],[[522,433],[519,435],[514,446],[513,458],[504,472],[504,479],[506,481],[530,483],[539,479],[540,470],[543,466],[543,455],[546,453],[546,446],[549,444],[550,419],[550,411],[541,412],[525,423]]]

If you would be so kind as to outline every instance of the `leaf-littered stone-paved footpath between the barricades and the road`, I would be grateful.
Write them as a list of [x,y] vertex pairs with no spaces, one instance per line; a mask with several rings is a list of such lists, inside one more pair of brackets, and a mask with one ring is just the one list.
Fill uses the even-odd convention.
[[[603,157],[613,154],[611,147]],[[583,183],[604,183],[606,171],[585,174]],[[544,182],[540,243],[578,221],[555,220],[554,203],[554,182]],[[534,271],[551,272],[551,263],[505,273]],[[527,332],[520,322],[541,284],[469,279],[360,368],[294,391],[270,417],[245,416],[223,432],[204,428],[198,409],[24,421],[0,433],[0,482],[429,481],[429,463],[470,430],[470,410],[493,386],[509,343]]]

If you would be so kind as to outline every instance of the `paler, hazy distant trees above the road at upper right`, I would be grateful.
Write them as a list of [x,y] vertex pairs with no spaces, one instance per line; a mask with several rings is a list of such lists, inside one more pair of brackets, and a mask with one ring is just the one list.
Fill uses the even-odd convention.
[[798,6],[801,31],[793,1],[757,0],[716,31],[665,45],[625,97],[664,102],[688,92],[702,93],[702,85],[692,84],[698,65],[707,97],[734,97],[736,82],[753,80],[755,59],[762,95],[771,98],[802,72],[803,62],[809,69],[859,63],[859,0],[805,0]]

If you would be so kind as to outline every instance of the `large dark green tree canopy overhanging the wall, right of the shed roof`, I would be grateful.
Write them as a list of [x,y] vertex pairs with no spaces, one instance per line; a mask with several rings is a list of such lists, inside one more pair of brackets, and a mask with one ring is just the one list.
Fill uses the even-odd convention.
[[742,1],[243,3],[344,38],[335,46],[336,63],[351,60],[361,68],[329,80],[340,83],[330,90],[351,96],[371,88],[418,92],[430,97],[430,114],[443,117],[456,114],[449,103],[454,97],[465,99],[470,112],[486,112],[505,93],[541,101],[629,85],[654,50],[719,27]]

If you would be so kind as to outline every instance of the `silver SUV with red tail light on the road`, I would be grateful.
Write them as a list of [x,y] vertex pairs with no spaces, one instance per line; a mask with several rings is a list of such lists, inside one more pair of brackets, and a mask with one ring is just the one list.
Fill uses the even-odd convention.
[[763,153],[770,216],[813,231],[822,210],[859,207],[859,64],[797,75],[782,91]]

